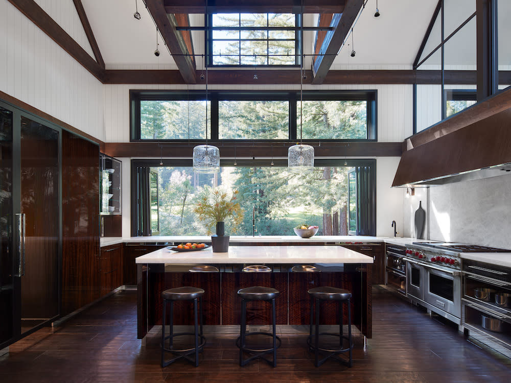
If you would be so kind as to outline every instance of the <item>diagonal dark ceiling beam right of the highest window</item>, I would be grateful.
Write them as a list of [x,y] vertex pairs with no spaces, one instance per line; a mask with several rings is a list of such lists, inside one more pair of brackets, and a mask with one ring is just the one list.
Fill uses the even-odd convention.
[[342,14],[334,14],[331,26],[335,27],[335,30],[327,32],[319,50],[320,56],[312,64],[313,84],[322,84],[326,79],[343,41],[363,5],[364,0],[347,0]]

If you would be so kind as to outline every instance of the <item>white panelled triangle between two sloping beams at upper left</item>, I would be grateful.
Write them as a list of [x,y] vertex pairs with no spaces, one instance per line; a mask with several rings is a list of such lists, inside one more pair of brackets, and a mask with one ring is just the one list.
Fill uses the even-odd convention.
[[48,13],[48,15],[50,15],[50,17],[90,55],[90,57],[95,58],[87,35],[83,30],[80,17],[76,12],[73,0],[35,0],[35,2],[44,12]]

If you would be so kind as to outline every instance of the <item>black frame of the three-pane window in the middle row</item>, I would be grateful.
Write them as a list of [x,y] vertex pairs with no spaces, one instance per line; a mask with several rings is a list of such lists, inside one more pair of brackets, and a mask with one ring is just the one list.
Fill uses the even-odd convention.
[[[189,139],[142,139],[141,136],[141,101],[198,101],[206,100],[205,91],[172,91],[172,90],[139,90],[130,89],[130,142],[189,142]],[[344,138],[329,139],[321,138],[322,142],[362,142],[378,141],[378,92],[375,89],[364,90],[307,90],[303,91],[303,101],[366,101],[367,102],[367,138]],[[297,103],[300,101],[300,91],[257,91],[257,90],[210,90],[207,92],[207,100],[211,102],[208,108],[211,117],[211,125],[208,131],[208,139],[221,142],[257,142],[257,139],[219,139],[218,138],[218,102],[219,101],[283,101],[289,102],[289,138],[275,139],[275,142],[293,142],[299,137],[297,126]],[[192,139],[194,142],[202,142],[205,139]],[[318,139],[304,139],[304,142],[317,142]]]

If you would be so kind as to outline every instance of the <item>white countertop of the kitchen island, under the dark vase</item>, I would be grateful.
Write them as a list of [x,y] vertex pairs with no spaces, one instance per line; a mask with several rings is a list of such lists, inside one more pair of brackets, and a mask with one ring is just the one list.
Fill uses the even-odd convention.
[[229,246],[189,252],[162,248],[135,258],[137,264],[372,264],[373,258],[341,246]]

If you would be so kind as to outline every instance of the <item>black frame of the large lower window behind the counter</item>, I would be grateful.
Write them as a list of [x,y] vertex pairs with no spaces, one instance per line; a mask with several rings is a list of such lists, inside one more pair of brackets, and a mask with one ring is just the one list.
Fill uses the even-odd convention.
[[[273,162],[273,165],[271,165]],[[220,166],[233,166],[231,159],[220,160]],[[345,166],[353,168],[357,183],[357,230],[350,235],[376,236],[376,159],[374,158],[317,158],[315,167]],[[149,174],[151,167],[158,166],[189,166],[192,159],[132,159],[131,160],[131,236],[151,235],[151,224],[147,219],[150,201],[144,205],[143,198],[148,192],[141,190],[138,179]],[[237,166],[287,166],[286,159],[239,159]],[[142,181],[143,182],[143,181]],[[142,183],[144,185],[144,183]],[[143,187],[142,187],[143,188]],[[362,195],[363,194],[363,195]],[[139,219],[142,217],[142,220]]]

